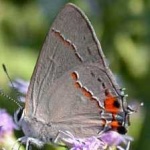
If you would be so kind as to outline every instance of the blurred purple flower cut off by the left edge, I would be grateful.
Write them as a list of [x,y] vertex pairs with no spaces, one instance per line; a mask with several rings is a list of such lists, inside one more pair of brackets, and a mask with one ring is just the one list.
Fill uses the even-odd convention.
[[11,134],[16,126],[12,117],[6,112],[5,109],[0,109],[0,120],[0,141],[2,141],[4,136],[6,134]]

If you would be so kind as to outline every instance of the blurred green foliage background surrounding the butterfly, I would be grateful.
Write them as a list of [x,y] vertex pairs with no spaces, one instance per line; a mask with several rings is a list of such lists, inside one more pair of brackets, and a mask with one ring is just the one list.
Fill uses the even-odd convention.
[[[129,95],[144,102],[131,116],[131,150],[150,149],[150,0],[0,0],[0,64],[12,79],[30,80],[48,29],[60,9],[72,2],[88,16],[111,69]],[[0,69],[0,87],[16,98]],[[13,114],[17,106],[0,97]],[[16,131],[15,137],[21,133]],[[23,134],[22,134],[23,135]]]

